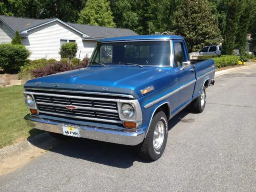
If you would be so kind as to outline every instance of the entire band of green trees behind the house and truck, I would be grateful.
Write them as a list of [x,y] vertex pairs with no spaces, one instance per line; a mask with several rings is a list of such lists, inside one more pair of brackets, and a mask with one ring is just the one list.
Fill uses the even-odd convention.
[[190,50],[216,44],[219,34],[226,54],[233,48],[244,52],[249,32],[256,44],[256,0],[1,0],[0,14],[56,17],[64,22],[129,28],[138,34],[176,31],[186,35]]

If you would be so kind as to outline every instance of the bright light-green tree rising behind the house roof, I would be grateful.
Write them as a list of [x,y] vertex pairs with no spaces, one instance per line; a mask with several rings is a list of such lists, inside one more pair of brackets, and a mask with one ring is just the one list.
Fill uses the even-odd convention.
[[79,14],[79,23],[114,27],[110,3],[107,0],[88,0]]

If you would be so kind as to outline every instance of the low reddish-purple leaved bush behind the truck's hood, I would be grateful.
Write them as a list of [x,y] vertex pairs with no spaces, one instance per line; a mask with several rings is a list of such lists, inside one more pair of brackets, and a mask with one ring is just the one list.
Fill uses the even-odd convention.
[[88,64],[89,64],[89,58],[84,58],[84,60],[82,60],[82,62],[77,66],[71,66],[70,64],[63,63],[63,62],[56,62],[53,64],[47,64],[42,68],[32,70],[31,74],[33,77],[38,78],[38,77],[52,75],[52,74],[56,74],[64,71],[85,68],[88,66]]

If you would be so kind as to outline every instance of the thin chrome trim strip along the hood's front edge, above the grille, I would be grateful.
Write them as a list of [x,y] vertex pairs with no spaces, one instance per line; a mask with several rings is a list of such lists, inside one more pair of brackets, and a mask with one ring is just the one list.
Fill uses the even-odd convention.
[[135,99],[135,97],[132,96],[132,95],[116,94],[116,93],[104,93],[104,92],[88,92],[88,91],[58,90],[58,89],[39,89],[39,88],[25,88],[25,90],[54,91],[54,92],[66,92],[66,93],[85,93],[85,94],[93,94],[93,95],[120,96],[120,97]]

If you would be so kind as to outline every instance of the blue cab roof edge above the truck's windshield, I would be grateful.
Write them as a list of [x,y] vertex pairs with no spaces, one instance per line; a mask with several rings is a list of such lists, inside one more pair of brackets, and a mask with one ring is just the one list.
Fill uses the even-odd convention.
[[132,41],[132,40],[171,40],[171,39],[180,39],[184,40],[182,36],[178,35],[136,35],[136,36],[125,36],[125,37],[114,37],[108,39],[102,39],[101,42],[116,42],[116,41]]

